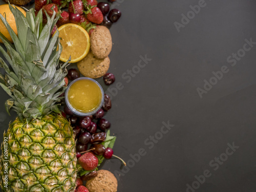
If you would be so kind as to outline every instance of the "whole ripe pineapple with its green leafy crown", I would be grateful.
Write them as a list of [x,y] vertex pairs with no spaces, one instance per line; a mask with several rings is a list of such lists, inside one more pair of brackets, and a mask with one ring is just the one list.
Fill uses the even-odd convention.
[[[55,13],[42,27],[42,11],[26,17],[9,7],[15,16],[18,36],[7,27],[14,45],[0,33],[8,53],[0,51],[0,86],[10,95],[5,102],[9,113],[18,117],[4,133],[0,165],[4,191],[74,191],[76,187],[75,135],[67,119],[59,115],[59,96],[65,91],[67,65],[59,65],[62,47],[58,31],[51,36],[57,19]],[[10,113],[9,113],[10,114]]]

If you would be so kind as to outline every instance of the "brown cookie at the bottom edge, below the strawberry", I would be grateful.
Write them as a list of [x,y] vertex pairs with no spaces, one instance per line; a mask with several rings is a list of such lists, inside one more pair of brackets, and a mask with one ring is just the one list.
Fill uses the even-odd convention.
[[108,170],[101,169],[97,177],[86,182],[86,187],[90,192],[116,192],[117,179]]

